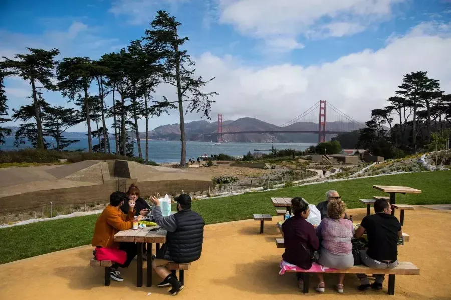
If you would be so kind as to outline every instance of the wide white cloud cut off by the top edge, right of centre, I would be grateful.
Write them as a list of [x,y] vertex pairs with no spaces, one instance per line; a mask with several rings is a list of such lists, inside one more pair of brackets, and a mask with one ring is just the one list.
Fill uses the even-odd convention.
[[220,22],[242,34],[271,40],[340,37],[388,19],[393,5],[406,0],[218,0]]

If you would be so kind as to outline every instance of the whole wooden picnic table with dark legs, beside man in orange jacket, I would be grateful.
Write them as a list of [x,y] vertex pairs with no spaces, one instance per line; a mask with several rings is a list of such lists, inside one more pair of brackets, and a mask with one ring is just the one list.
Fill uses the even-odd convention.
[[[158,231],[150,231],[153,228],[159,228]],[[119,231],[114,235],[115,242],[133,242],[137,244],[137,287],[142,287],[142,246],[147,243],[147,287],[152,286],[152,244],[156,244],[156,252],[160,244],[166,242],[167,231],[159,226],[140,228],[137,230],[129,229]]]

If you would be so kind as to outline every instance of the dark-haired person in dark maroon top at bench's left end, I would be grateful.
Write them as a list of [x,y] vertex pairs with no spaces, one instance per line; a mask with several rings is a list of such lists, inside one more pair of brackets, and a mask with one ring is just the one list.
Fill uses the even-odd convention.
[[[309,217],[309,203],[303,198],[291,199],[293,217],[285,220],[282,224],[282,236],[285,239],[285,252],[282,259],[308,270],[312,267],[310,252],[318,250],[319,240],[316,230],[312,224],[306,221]],[[304,274],[296,273],[299,288],[303,288]]]

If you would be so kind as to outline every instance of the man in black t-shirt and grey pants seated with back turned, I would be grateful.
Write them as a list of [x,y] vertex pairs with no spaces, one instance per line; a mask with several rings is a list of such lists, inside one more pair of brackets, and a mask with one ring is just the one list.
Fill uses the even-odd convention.
[[[360,227],[355,231],[359,238],[365,233],[368,235],[368,249],[360,250],[362,263],[370,268],[390,269],[398,265],[398,239],[402,236],[402,228],[398,219],[391,215],[391,205],[383,199],[374,202],[376,214],[363,218]],[[382,289],[384,275],[376,275],[373,284],[369,284],[365,274],[357,274],[361,285],[359,290]]]

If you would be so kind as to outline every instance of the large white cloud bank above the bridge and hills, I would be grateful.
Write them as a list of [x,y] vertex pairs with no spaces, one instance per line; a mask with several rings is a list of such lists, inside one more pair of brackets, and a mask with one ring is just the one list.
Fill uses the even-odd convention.
[[364,122],[372,109],[388,104],[386,99],[395,95],[406,73],[428,71],[451,93],[451,36],[443,34],[448,25],[424,23],[392,38],[382,49],[319,65],[251,67],[232,56],[205,53],[196,59],[196,69],[203,78],[216,77],[205,90],[220,93],[211,112],[213,119],[222,113],[227,119],[249,116],[277,125],[327,100]]

